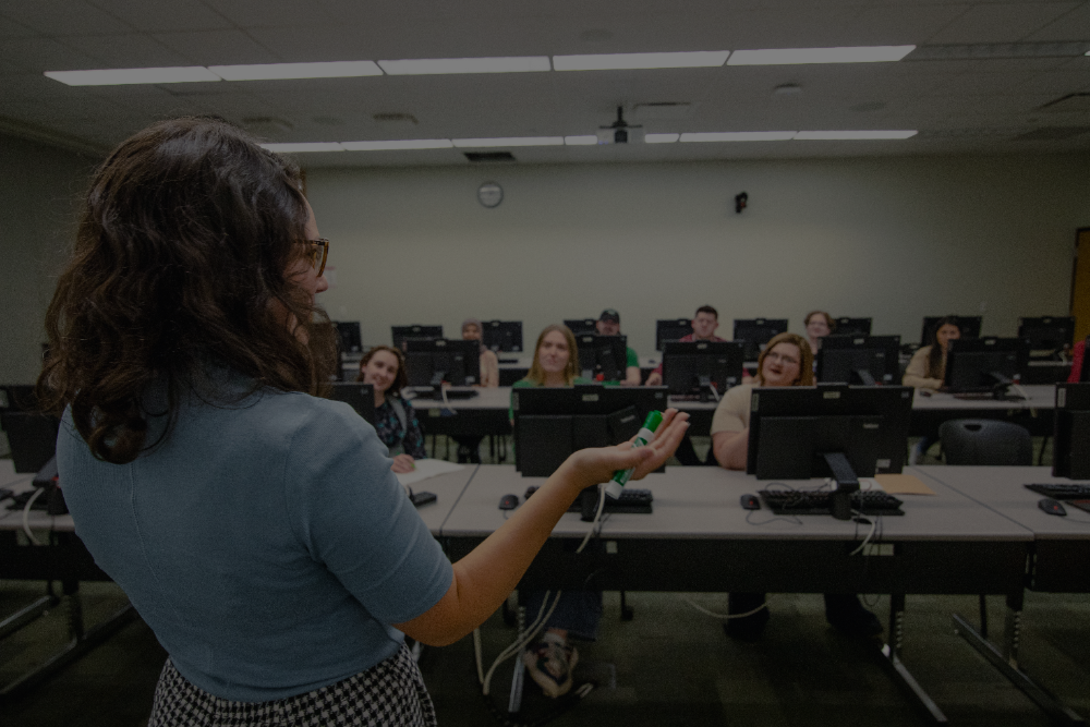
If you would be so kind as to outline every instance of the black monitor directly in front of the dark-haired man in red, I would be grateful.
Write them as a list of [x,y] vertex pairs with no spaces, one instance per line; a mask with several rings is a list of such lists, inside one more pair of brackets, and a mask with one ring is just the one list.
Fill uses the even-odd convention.
[[741,384],[744,348],[741,341],[668,342],[663,349],[663,384],[673,395],[718,399]]

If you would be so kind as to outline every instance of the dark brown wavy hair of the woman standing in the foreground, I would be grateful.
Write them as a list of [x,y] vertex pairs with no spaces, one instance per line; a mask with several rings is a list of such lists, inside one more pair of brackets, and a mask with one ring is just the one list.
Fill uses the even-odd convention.
[[[299,169],[215,118],[162,121],[122,142],[92,178],[74,250],[46,314],[38,396],[72,419],[95,457],[134,460],[144,398],[226,367],[261,388],[322,393],[336,334],[286,272],[310,254]],[[205,395],[208,396],[205,396]],[[155,412],[156,415],[162,412]],[[161,438],[159,440],[161,440]]]

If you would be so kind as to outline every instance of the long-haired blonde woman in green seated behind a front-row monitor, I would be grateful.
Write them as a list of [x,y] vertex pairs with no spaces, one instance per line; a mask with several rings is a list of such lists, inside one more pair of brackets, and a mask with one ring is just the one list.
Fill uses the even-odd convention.
[[[516,381],[512,388],[558,388],[576,384],[593,384],[579,376],[576,337],[567,326],[546,326],[537,337],[530,373]],[[514,421],[513,411],[511,421]],[[531,591],[522,596],[526,613],[536,615],[545,592]],[[548,606],[552,606],[552,599]],[[545,623],[541,641],[522,654],[531,678],[546,695],[556,699],[571,689],[571,671],[579,661],[579,652],[569,643],[568,637],[594,641],[601,618],[601,591],[565,591],[561,594],[560,603]]]

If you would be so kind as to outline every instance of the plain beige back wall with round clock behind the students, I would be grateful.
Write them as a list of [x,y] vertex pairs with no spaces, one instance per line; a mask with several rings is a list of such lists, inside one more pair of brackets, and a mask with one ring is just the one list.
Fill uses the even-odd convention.
[[[875,334],[919,338],[924,315],[1066,314],[1075,230],[1090,225],[1087,156],[731,161],[562,167],[312,169],[332,240],[330,316],[391,324],[521,319],[532,347],[561,318],[621,314],[641,354],[654,319],[811,308],[872,316]],[[476,187],[497,181],[486,209]],[[749,208],[734,211],[734,195]]]

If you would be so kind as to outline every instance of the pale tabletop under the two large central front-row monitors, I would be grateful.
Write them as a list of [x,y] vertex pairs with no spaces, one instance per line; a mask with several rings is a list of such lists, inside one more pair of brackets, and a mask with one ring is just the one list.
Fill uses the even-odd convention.
[[[516,494],[520,501],[526,487],[541,485],[542,477],[522,477],[513,465],[482,464],[453,512],[443,525],[443,536],[484,536],[504,523],[499,498]],[[771,510],[747,511],[742,494],[756,493],[772,481],[758,481],[742,472],[719,468],[668,468],[650,474],[629,487],[652,490],[652,514],[614,513],[604,518],[603,537],[712,538],[712,540],[861,540],[868,526],[831,517],[777,517]],[[822,484],[821,480],[785,483],[792,486]],[[898,496],[905,516],[882,519],[883,540],[1001,540],[1030,541],[1032,534],[950,487],[931,480],[936,496]],[[747,519],[748,517],[748,519]],[[578,513],[565,513],[553,534],[585,535],[589,523]]]

